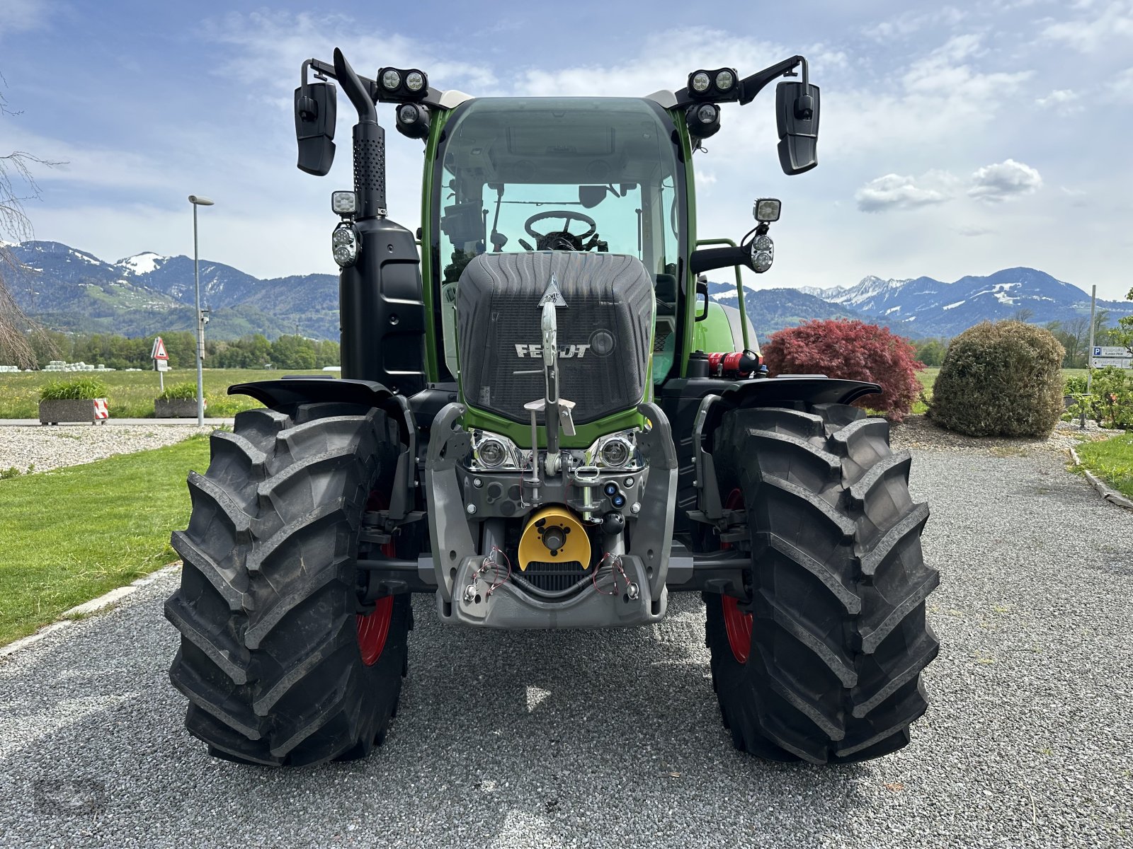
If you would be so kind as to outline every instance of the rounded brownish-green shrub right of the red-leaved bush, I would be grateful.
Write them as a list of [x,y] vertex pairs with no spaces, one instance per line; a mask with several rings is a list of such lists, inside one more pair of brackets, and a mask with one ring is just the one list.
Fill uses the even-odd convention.
[[983,321],[948,345],[929,415],[968,436],[1048,436],[1063,413],[1065,350],[1049,331]]

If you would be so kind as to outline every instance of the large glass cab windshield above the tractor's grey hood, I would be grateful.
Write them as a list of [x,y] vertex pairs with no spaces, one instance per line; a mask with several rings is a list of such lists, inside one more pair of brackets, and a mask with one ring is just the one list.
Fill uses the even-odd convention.
[[[636,97],[483,97],[454,110],[432,203],[433,285],[452,374],[455,284],[486,251],[636,256],[657,282],[663,329],[661,316],[676,301],[685,215],[675,137],[668,114]],[[675,317],[668,324],[671,333]]]

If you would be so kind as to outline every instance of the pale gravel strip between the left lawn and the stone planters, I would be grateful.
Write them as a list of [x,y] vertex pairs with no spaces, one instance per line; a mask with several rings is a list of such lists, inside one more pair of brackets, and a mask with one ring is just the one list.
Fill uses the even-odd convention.
[[214,429],[214,424],[203,428],[186,424],[6,427],[0,430],[0,469],[45,472],[113,454],[161,448],[193,434],[211,434]]

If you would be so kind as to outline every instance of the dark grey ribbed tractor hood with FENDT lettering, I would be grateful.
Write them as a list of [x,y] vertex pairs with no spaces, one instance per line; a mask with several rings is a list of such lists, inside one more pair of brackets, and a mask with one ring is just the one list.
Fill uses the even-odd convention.
[[554,276],[560,393],[579,424],[644,400],[653,333],[653,282],[637,257],[531,251],[483,254],[457,293],[465,402],[526,423],[544,395],[539,300]]

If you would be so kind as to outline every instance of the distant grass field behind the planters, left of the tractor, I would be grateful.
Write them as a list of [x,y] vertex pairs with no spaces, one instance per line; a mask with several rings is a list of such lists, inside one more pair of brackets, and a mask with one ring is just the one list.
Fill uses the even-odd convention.
[[[205,415],[231,417],[241,410],[262,406],[246,395],[229,395],[228,387],[248,380],[271,380],[289,375],[323,375],[324,371],[269,371],[265,369],[205,369]],[[52,380],[73,377],[97,377],[107,384],[110,414],[114,418],[140,419],[153,415],[153,400],[159,394],[156,371],[22,371],[0,374],[0,419],[34,419],[39,417],[40,387]],[[196,369],[165,372],[165,386],[180,383],[196,385]]]

